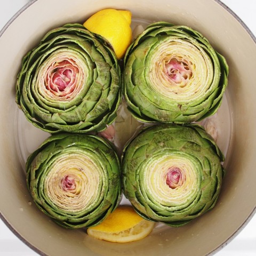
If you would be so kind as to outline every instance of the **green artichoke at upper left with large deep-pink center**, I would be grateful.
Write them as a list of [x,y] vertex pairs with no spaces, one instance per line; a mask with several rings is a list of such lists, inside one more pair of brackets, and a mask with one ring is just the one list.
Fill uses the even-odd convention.
[[16,102],[46,132],[101,131],[116,117],[120,84],[116,55],[102,37],[67,24],[23,58]]

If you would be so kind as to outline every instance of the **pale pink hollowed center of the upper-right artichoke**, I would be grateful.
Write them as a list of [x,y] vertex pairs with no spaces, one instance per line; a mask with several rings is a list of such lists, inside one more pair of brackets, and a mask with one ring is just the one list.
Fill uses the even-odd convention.
[[165,62],[164,73],[168,79],[180,86],[185,86],[193,75],[190,63],[178,57]]

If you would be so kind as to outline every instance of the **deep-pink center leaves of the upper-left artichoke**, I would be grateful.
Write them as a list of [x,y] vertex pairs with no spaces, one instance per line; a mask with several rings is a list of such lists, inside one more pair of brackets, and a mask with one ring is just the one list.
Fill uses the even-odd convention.
[[79,73],[78,68],[73,63],[74,60],[65,59],[61,62],[55,62],[54,65],[47,70],[46,88],[54,92],[65,94],[68,90],[69,93],[75,90],[76,76]]

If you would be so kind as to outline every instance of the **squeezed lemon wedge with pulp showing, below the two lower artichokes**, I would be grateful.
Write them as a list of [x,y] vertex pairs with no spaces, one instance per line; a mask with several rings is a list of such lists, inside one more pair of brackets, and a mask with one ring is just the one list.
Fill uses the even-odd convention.
[[109,242],[126,243],[140,240],[153,230],[155,222],[145,220],[132,206],[120,205],[105,220],[87,229],[87,234]]

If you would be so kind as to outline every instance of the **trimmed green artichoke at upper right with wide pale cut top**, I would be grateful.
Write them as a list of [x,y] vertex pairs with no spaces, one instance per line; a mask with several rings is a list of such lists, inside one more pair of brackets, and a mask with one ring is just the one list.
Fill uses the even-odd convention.
[[228,65],[200,33],[156,22],[124,59],[123,91],[142,122],[191,123],[213,115],[227,87]]

